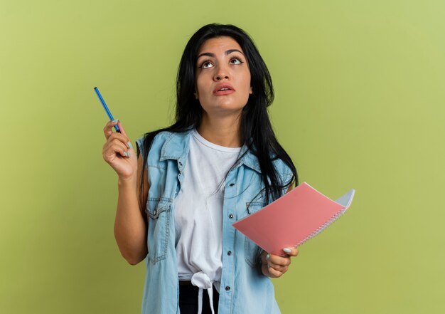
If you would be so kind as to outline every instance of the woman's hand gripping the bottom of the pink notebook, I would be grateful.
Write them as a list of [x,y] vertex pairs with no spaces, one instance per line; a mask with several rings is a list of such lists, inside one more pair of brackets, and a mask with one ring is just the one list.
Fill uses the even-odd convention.
[[286,257],[282,257],[279,255],[268,254],[266,251],[263,251],[261,254],[261,271],[264,276],[271,278],[281,277],[283,273],[289,269],[289,265],[291,264],[291,256],[297,256],[299,251],[298,248],[283,248],[284,254]]

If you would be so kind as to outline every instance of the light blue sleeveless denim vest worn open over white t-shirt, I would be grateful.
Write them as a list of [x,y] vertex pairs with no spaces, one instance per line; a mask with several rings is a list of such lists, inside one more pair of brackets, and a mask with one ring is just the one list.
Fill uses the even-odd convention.
[[[149,151],[148,254],[142,314],[180,313],[173,201],[183,184],[190,135],[191,132],[160,132]],[[139,149],[143,140],[141,137],[136,141]],[[243,146],[240,155],[246,150]],[[274,166],[282,182],[289,182],[292,174],[284,162],[277,159]],[[280,313],[272,281],[261,272],[261,248],[232,226],[266,205],[264,195],[254,199],[262,187],[258,159],[249,151],[225,180],[220,314]]]

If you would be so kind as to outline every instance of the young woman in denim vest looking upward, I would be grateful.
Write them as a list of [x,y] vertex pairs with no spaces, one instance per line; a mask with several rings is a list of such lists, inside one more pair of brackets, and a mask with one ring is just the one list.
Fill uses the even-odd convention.
[[137,156],[120,122],[104,127],[103,157],[118,174],[114,235],[130,264],[146,261],[142,313],[279,313],[269,277],[297,249],[268,254],[232,227],[298,184],[252,39],[232,25],[200,28],[176,95],[176,122],[137,140]]

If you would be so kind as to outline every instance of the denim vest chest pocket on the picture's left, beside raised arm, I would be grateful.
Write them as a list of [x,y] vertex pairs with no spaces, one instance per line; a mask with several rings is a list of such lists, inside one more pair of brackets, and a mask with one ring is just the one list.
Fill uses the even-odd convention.
[[171,204],[171,199],[163,197],[147,200],[146,209],[149,214],[147,248],[151,263],[157,263],[167,256]]

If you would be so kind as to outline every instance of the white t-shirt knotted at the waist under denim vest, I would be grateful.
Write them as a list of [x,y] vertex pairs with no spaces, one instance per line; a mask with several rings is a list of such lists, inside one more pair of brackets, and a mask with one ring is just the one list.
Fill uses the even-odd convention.
[[225,177],[240,150],[208,142],[196,130],[190,137],[184,179],[175,199],[176,256],[179,280],[191,281],[200,295],[207,289],[210,296],[212,284],[220,290]]

